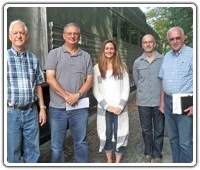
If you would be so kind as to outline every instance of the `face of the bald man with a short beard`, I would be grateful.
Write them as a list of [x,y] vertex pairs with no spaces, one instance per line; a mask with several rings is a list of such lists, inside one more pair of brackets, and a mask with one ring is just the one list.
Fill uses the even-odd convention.
[[144,52],[151,53],[153,52],[156,46],[155,40],[152,35],[145,35],[142,39],[142,48]]

